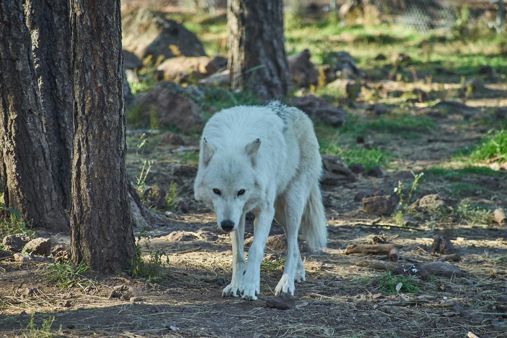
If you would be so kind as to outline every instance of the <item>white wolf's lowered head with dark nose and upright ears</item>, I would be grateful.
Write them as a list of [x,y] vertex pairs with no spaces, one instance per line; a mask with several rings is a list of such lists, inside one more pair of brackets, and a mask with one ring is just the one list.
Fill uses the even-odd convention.
[[255,157],[261,140],[247,144],[243,151],[216,149],[201,141],[195,198],[212,205],[218,227],[230,232],[238,227],[245,204],[256,195]]

